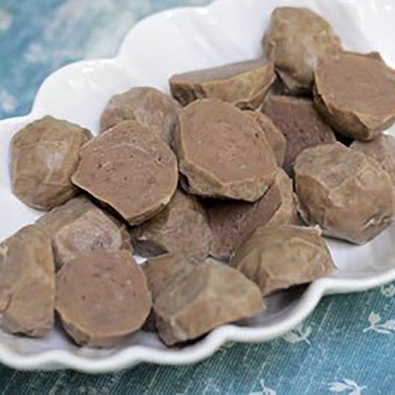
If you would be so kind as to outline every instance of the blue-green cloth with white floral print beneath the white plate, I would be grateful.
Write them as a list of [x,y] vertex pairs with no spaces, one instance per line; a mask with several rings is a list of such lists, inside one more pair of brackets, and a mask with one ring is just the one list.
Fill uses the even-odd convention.
[[[59,67],[115,55],[139,19],[209,2],[0,0],[0,117],[28,113],[40,83]],[[395,394],[395,286],[326,297],[286,336],[230,343],[194,365],[141,364],[106,375],[0,365],[0,394]]]

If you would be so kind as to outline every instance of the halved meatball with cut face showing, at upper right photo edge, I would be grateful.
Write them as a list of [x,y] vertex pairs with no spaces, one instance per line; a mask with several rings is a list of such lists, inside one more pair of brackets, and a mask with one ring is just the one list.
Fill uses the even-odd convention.
[[316,69],[314,101],[338,133],[373,140],[395,122],[395,70],[374,54],[344,52]]

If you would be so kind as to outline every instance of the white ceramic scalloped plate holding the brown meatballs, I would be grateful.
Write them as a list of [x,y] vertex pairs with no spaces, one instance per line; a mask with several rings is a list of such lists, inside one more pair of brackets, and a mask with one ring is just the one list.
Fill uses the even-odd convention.
[[[0,122],[0,239],[39,216],[10,192],[8,144],[16,130],[50,114],[97,131],[99,115],[115,93],[138,85],[167,90],[173,73],[257,57],[270,14],[279,5],[312,8],[332,23],[346,48],[378,50],[395,67],[394,0],[217,0],[205,8],[153,15],[131,30],[115,59],[83,61],[57,71],[42,84],[31,114]],[[217,328],[194,345],[168,349],[156,335],[138,332],[111,350],[81,349],[55,328],[40,340],[0,333],[0,361],[20,369],[104,372],[142,361],[196,362],[229,340],[270,340],[306,318],[325,294],[361,291],[394,280],[394,240],[395,226],[362,247],[330,240],[338,268],[333,276],[277,295],[264,315]]]

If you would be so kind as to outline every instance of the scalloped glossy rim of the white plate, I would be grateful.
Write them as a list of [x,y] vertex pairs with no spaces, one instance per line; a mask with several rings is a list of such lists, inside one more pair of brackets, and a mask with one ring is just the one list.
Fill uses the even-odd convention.
[[[220,7],[220,4],[226,1],[228,0],[216,0],[205,7],[177,7],[154,13],[142,19],[126,34],[119,46],[118,54],[115,57],[109,59],[81,60],[54,71],[40,85],[31,112],[26,116],[3,119],[0,121],[0,127],[6,124],[9,126],[26,122],[40,114],[43,110],[41,108],[40,98],[44,96],[43,92],[46,83],[49,80],[55,79],[57,74],[65,69],[76,67],[84,63],[95,64],[101,62],[117,62],[117,60],[119,60],[120,65],[122,65],[122,53],[127,45],[127,41],[141,25],[150,23],[155,18],[166,16],[166,14],[174,16],[174,14],[179,11],[207,10]],[[56,370],[71,368],[86,373],[113,372],[135,366],[141,362],[174,365],[194,363],[211,356],[228,341],[263,342],[284,335],[309,316],[314,311],[321,298],[325,295],[365,291],[393,280],[395,280],[395,268],[391,268],[375,276],[370,276],[369,278],[321,278],[309,285],[301,300],[295,306],[292,306],[290,315],[287,316],[286,319],[275,322],[274,324],[269,324],[264,328],[247,328],[232,324],[223,325],[208,334],[193,350],[155,350],[146,346],[130,346],[112,356],[94,360],[64,350],[50,350],[37,353],[37,355],[23,356],[8,350],[0,343],[0,362],[9,367],[21,370]]]

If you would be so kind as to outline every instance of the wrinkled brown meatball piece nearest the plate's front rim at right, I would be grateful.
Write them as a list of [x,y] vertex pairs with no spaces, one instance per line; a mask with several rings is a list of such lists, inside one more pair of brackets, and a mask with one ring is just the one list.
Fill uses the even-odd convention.
[[319,228],[258,229],[237,251],[232,265],[258,284],[263,296],[329,275],[333,261]]

